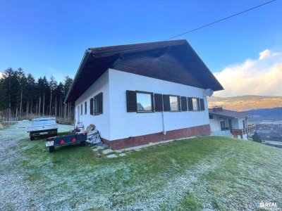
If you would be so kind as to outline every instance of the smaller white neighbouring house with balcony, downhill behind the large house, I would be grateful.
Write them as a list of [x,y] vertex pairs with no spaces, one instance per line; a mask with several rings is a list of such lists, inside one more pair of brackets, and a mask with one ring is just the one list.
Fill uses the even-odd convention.
[[247,140],[247,134],[255,131],[255,124],[248,126],[252,115],[222,107],[209,108],[209,124],[214,136],[233,136]]

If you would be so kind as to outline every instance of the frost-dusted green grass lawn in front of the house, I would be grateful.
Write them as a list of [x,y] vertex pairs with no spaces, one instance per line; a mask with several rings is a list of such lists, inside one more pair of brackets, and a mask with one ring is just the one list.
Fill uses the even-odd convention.
[[98,158],[75,145],[49,153],[44,140],[20,139],[0,155],[0,210],[282,208],[281,149],[206,136],[126,154]]

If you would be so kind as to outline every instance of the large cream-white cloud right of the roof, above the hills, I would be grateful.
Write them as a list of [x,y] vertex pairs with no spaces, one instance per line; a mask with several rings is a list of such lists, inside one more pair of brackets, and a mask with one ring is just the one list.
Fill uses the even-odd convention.
[[247,59],[214,75],[225,89],[215,96],[282,96],[282,55],[278,52],[266,49],[257,60]]

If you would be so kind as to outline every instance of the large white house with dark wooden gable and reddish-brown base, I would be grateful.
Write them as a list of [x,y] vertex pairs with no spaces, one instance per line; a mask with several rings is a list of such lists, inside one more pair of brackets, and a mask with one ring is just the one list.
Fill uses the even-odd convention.
[[186,40],[87,49],[66,97],[75,124],[112,148],[209,135],[205,89],[221,84]]

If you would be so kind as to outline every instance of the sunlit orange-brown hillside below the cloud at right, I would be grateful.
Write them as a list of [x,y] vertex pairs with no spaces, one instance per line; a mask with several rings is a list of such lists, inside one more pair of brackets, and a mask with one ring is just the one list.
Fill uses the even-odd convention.
[[216,97],[208,98],[209,108],[212,106],[223,106],[229,110],[252,110],[258,108],[276,108],[282,107],[282,96],[234,96],[234,97]]

